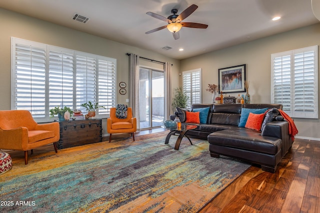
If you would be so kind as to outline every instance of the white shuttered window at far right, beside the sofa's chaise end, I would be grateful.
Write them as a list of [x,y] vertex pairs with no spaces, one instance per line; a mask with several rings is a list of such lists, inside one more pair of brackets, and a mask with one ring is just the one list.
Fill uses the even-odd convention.
[[271,101],[291,117],[318,118],[317,46],[271,54]]

